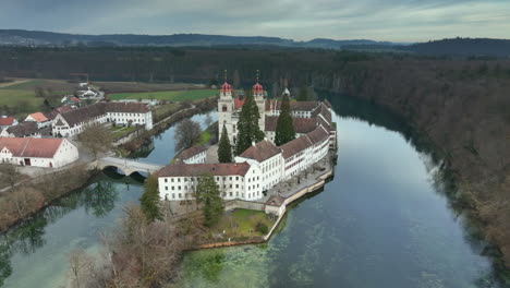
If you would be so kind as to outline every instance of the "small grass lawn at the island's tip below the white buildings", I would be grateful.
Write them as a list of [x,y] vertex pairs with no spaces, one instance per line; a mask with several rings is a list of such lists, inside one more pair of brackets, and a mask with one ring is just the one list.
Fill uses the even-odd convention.
[[263,236],[257,230],[258,223],[265,224],[268,230],[274,225],[263,211],[234,209],[224,213],[218,225],[212,228],[212,231],[221,233],[224,230],[228,237]]

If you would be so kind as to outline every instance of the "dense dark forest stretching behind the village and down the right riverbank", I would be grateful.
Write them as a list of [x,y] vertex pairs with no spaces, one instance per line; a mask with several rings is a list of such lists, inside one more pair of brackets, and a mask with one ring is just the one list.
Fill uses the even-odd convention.
[[0,48],[3,75],[210,83],[227,69],[270,94],[313,86],[365,98],[405,117],[445,157],[456,197],[510,263],[510,61],[321,49]]

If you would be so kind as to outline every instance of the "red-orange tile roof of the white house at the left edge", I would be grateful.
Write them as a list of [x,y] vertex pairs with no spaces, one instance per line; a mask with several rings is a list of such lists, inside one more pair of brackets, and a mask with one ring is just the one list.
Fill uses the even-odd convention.
[[52,158],[62,139],[0,137],[0,151],[7,147],[15,157]]

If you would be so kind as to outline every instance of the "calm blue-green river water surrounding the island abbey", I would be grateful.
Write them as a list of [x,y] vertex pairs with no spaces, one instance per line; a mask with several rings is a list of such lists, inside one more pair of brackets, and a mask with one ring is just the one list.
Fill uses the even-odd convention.
[[[262,245],[184,255],[179,287],[507,287],[479,231],[456,211],[440,158],[400,119],[368,103],[332,97],[335,178],[289,209]],[[204,116],[195,116],[202,121]],[[167,164],[173,128],[137,158]],[[69,251],[100,251],[142,183],[101,173],[2,240],[3,287],[58,287]]]

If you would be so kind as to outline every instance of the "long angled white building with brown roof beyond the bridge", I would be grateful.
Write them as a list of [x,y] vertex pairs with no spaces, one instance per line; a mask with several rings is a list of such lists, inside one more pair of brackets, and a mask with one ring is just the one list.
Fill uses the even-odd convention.
[[54,136],[72,137],[88,125],[111,122],[116,125],[143,125],[153,129],[153,112],[141,103],[97,103],[64,111],[52,121]]

